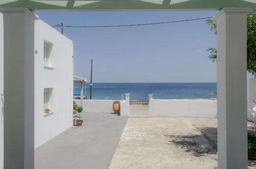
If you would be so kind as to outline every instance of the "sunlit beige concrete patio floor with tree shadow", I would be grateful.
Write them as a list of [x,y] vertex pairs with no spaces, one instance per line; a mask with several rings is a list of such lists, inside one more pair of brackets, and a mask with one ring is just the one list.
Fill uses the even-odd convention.
[[[133,117],[127,120],[110,168],[217,168],[215,144],[217,119]],[[249,168],[256,168],[254,161]]]

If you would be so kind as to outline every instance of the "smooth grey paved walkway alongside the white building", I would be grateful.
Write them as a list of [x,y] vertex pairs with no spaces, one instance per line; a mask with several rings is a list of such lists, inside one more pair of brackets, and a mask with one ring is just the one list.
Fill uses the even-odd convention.
[[108,168],[127,117],[86,113],[71,128],[35,150],[35,169]]

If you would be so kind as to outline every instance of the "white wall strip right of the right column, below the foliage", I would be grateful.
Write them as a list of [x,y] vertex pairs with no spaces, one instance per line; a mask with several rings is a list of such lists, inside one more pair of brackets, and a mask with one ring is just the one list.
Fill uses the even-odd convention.
[[256,106],[254,101],[256,100],[256,79],[247,79],[247,119],[253,121],[253,117],[249,108],[252,110],[252,106]]

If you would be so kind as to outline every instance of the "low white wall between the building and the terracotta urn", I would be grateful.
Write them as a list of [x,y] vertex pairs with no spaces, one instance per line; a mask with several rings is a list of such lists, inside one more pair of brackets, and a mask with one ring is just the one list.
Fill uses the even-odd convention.
[[[80,105],[80,100],[75,100]],[[83,100],[84,112],[113,113],[114,100]]]

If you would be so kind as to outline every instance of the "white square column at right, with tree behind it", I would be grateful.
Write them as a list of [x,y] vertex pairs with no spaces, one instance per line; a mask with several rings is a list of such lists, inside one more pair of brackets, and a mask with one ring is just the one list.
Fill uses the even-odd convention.
[[217,20],[218,168],[247,168],[246,14],[224,8]]

